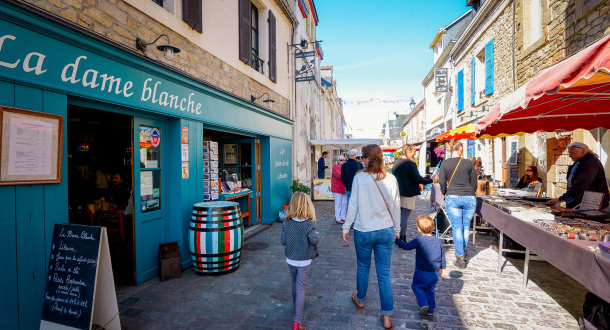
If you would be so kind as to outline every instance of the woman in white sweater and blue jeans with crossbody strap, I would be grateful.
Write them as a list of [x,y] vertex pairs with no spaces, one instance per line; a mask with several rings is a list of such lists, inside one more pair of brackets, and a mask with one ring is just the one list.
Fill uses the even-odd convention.
[[354,246],[358,266],[357,292],[352,294],[352,302],[357,308],[364,308],[371,254],[374,251],[381,299],[380,319],[384,328],[392,329],[394,300],[390,265],[394,238],[398,237],[400,232],[400,194],[396,178],[387,173],[383,166],[383,152],[378,145],[365,146],[362,149],[362,157],[365,170],[354,177],[352,196],[343,224],[343,240],[348,242],[350,226],[354,223]]

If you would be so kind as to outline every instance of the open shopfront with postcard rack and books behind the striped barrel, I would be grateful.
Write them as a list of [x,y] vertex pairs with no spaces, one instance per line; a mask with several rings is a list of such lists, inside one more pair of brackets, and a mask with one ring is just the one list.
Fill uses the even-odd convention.
[[204,199],[237,202],[245,227],[260,223],[260,140],[205,130],[203,141]]

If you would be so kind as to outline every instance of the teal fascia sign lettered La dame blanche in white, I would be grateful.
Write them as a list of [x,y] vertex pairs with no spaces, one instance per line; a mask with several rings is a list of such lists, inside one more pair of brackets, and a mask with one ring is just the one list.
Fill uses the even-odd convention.
[[[201,118],[210,96],[70,43],[0,21],[0,78]],[[127,57],[127,56],[126,56]]]

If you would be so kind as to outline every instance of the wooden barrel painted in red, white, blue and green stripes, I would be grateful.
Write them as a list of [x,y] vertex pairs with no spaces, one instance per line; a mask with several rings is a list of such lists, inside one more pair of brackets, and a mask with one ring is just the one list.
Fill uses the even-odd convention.
[[189,248],[198,275],[221,275],[239,267],[244,226],[239,204],[203,202],[193,205]]

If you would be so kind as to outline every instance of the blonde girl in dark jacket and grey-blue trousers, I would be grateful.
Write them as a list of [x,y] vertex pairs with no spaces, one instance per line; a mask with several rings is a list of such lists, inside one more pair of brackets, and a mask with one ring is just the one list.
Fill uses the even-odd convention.
[[286,246],[284,254],[292,275],[293,330],[306,329],[303,325],[305,285],[309,276],[309,265],[318,256],[320,241],[320,234],[314,226],[315,220],[316,211],[309,195],[295,192],[288,204],[280,237],[282,245]]

